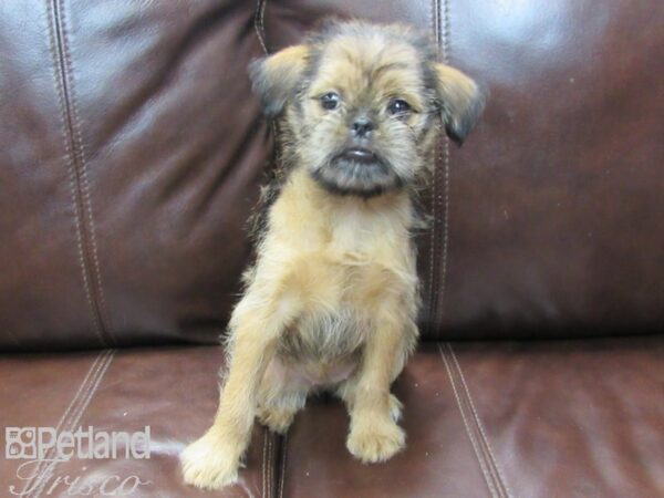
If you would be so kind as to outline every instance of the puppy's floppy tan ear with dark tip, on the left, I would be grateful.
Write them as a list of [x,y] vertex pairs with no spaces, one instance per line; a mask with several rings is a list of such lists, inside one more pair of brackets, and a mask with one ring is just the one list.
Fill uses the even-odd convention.
[[308,45],[293,45],[249,64],[253,92],[268,116],[281,114],[302,80],[308,56]]

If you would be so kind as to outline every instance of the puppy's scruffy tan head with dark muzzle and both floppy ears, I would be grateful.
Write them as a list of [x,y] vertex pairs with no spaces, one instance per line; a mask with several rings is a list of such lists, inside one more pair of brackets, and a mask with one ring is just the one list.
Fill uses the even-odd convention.
[[286,115],[298,164],[340,195],[411,184],[440,120],[460,144],[483,107],[469,77],[398,25],[330,23],[250,72],[267,114]]

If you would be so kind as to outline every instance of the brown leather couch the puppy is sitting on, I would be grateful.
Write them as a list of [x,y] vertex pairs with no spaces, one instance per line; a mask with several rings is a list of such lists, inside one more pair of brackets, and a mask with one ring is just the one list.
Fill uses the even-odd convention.
[[[490,90],[424,195],[408,447],[354,461],[322,398],[198,491],[177,454],[216,408],[274,159],[246,66],[330,13],[428,30]],[[661,0],[2,0],[0,423],[149,426],[151,458],[40,484],[0,455],[0,496],[664,496],[662,25]]]

